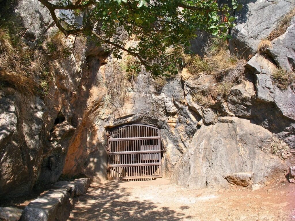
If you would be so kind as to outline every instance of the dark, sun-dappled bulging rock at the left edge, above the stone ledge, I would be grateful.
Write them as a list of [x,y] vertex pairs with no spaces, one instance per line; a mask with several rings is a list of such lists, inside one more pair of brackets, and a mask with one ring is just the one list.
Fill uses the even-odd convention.
[[42,162],[45,112],[37,96],[0,96],[0,197],[27,194]]

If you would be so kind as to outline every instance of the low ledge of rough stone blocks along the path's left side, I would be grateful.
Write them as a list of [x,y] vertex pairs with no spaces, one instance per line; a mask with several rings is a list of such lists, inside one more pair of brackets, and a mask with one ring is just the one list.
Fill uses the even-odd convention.
[[0,208],[0,220],[7,221],[65,221],[74,207],[74,197],[84,194],[90,186],[89,178],[59,181],[53,189],[42,193],[24,210]]

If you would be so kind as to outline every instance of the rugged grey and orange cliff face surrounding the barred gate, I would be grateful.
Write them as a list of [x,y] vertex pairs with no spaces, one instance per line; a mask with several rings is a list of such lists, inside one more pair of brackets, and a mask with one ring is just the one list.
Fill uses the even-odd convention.
[[[247,58],[255,54],[260,40],[277,27],[295,1],[242,3],[242,10],[235,12],[238,19],[231,30],[230,52],[238,51]],[[28,28],[26,40],[32,49],[39,37],[54,29],[37,0],[20,1],[15,12]],[[202,55],[207,38],[199,34],[200,41],[193,41],[196,53]],[[213,75],[183,71],[158,88],[157,80],[142,69],[135,79],[124,83],[124,102],[111,93],[116,84],[108,79],[118,78],[114,68],[116,64],[120,67],[127,55],[117,61],[103,48],[81,41],[78,52],[50,61],[54,75],[49,96],[27,96],[9,87],[0,90],[0,197],[27,194],[36,182],[55,183],[62,174],[105,179],[106,130],[133,122],[160,128],[163,174],[178,185],[263,184],[285,166],[279,157],[265,151],[272,148],[272,139],[295,148],[294,88],[280,90],[271,76],[277,65],[294,68],[292,39],[294,19],[286,33],[271,42],[273,48],[267,54],[257,53],[248,61],[246,80],[230,88],[228,95],[217,95],[218,82]],[[63,41],[72,46],[74,38]],[[126,47],[136,44],[126,36],[122,42]],[[251,172],[251,179],[241,177],[244,172]],[[56,185],[69,195],[79,194],[89,187],[87,180],[79,182],[74,189],[73,183]],[[64,193],[52,193],[59,196],[52,201],[54,208],[36,210],[40,202],[35,202],[30,211],[58,216],[60,200],[68,205]]]

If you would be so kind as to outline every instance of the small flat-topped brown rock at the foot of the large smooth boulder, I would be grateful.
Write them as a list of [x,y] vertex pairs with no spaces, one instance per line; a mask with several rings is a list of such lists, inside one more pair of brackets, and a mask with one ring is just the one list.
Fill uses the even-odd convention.
[[231,184],[247,187],[249,184],[252,184],[253,172],[239,172],[233,174],[226,174],[223,175],[223,177],[224,179],[227,179],[227,182]]

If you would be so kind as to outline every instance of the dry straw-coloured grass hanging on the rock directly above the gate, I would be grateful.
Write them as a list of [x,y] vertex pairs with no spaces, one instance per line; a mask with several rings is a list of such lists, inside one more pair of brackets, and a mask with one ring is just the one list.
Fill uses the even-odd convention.
[[117,62],[112,62],[110,67],[106,69],[105,85],[111,103],[118,103],[123,106],[129,100],[127,81]]

